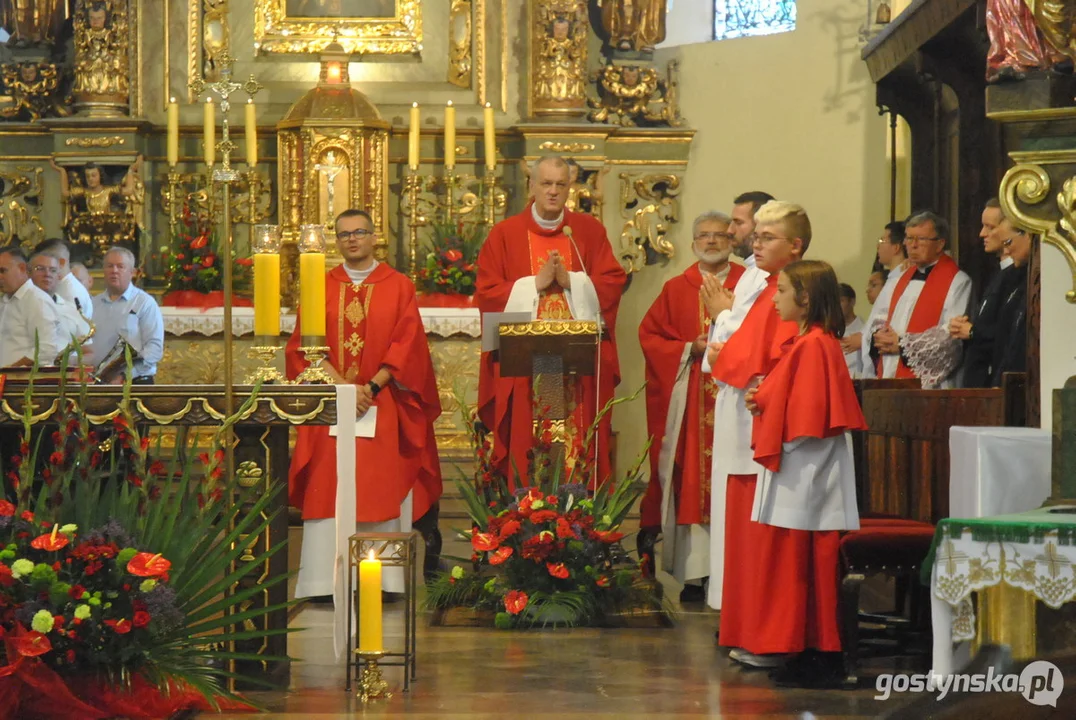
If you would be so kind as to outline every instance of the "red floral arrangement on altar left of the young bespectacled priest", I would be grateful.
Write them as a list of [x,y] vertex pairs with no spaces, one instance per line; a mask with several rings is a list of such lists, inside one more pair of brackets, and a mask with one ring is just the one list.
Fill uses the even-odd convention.
[[[170,248],[161,248],[161,260],[168,264],[165,286],[168,292],[216,293],[224,290],[224,266],[209,217],[184,204]],[[235,260],[232,283],[249,285],[254,260]]]

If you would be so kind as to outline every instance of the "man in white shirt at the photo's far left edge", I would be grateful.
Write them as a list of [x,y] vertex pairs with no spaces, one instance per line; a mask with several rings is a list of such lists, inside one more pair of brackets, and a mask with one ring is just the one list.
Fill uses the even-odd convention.
[[0,249],[0,367],[33,365],[36,352],[39,365],[53,365],[62,347],[56,306],[30,281],[17,246]]

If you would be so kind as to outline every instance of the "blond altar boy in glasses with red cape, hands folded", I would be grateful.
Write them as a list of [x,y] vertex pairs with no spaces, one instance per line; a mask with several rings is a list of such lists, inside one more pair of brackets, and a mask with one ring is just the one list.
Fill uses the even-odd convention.
[[[765,604],[752,588],[755,574],[755,534],[751,522],[754,488],[762,468],[751,450],[753,421],[745,405],[745,394],[773,368],[775,345],[795,337],[798,327],[784,322],[774,308],[777,274],[803,255],[810,244],[810,220],[797,204],[771,200],[755,214],[754,259],[766,273],[763,288],[749,297],[742,324],[723,344],[713,342],[707,355],[713,378],[720,383],[713,408],[713,471],[710,486],[710,585],[707,601],[721,609],[719,643],[732,647],[730,658],[754,666],[771,665],[773,660],[747,652],[728,639],[726,626],[750,623]],[[745,278],[747,276],[745,274]],[[740,281],[740,285],[744,281]],[[739,292],[735,298],[740,303]]]

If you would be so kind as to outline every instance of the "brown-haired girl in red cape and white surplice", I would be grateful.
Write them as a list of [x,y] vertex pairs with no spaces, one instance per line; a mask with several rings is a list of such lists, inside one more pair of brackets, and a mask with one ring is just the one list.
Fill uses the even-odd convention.
[[866,429],[844,349],[837,276],[801,260],[781,271],[774,305],[798,336],[747,393],[755,415],[758,525],[753,592],[763,612],[725,626],[725,641],[755,654],[798,653],[775,677],[788,684],[840,680],[837,622],[840,531],[859,530],[851,430]]

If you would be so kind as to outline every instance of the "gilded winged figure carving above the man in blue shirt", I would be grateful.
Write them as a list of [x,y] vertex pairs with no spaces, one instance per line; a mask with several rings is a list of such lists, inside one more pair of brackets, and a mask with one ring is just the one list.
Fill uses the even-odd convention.
[[[142,156],[128,169],[118,185],[107,185],[101,180],[101,168],[87,163],[83,168],[85,184],[72,184],[68,171],[49,160],[60,173],[60,196],[63,199],[63,228],[68,240],[81,246],[87,265],[93,265],[109,246],[125,244],[137,251],[138,227],[145,200],[141,183]],[[115,210],[114,203],[123,203]],[[132,246],[133,245],[133,246]],[[136,252],[137,254],[137,252]]]

